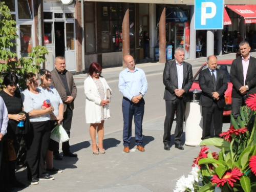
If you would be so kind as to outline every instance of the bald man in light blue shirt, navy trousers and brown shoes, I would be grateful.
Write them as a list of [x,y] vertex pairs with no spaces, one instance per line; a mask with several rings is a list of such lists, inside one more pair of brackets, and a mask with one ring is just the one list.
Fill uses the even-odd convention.
[[135,67],[134,58],[131,55],[124,56],[123,62],[127,68],[119,74],[118,84],[119,91],[123,95],[123,151],[125,153],[130,152],[129,145],[132,138],[132,120],[134,116],[135,144],[139,151],[144,152],[142,120],[145,104],[143,96],[147,91],[146,76],[142,69]]

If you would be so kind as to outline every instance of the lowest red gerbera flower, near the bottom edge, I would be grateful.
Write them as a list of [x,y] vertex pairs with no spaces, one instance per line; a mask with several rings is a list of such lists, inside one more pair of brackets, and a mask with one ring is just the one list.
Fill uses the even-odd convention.
[[233,187],[233,183],[236,183],[236,179],[240,180],[239,177],[241,177],[242,175],[243,174],[241,173],[240,169],[234,167],[232,170],[227,170],[221,179],[219,178],[218,175],[214,175],[210,180],[213,184],[216,183],[217,186],[223,186],[226,182],[228,182],[231,185],[231,187]]

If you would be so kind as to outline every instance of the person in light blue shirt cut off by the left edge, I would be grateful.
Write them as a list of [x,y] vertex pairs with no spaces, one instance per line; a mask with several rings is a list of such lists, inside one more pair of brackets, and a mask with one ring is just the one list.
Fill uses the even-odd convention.
[[3,137],[7,133],[7,126],[8,126],[8,111],[5,106],[5,102],[2,97],[0,97],[0,191],[4,190],[2,189],[3,186],[3,166],[2,166],[2,160],[3,160]]

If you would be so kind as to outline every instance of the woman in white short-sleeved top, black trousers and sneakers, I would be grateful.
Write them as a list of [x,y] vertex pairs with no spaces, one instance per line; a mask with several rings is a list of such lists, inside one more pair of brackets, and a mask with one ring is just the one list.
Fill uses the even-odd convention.
[[24,111],[29,114],[30,130],[27,135],[27,168],[28,180],[38,184],[39,180],[53,180],[45,168],[46,154],[50,140],[50,114],[54,107],[42,109],[48,98],[44,92],[37,89],[38,79],[34,73],[24,75],[28,89],[22,92]]

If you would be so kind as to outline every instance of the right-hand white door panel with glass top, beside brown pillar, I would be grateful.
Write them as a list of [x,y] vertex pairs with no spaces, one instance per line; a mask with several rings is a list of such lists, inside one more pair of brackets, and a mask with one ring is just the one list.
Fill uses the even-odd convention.
[[75,23],[65,25],[65,58],[68,71],[76,70]]

